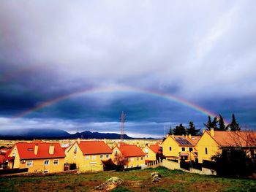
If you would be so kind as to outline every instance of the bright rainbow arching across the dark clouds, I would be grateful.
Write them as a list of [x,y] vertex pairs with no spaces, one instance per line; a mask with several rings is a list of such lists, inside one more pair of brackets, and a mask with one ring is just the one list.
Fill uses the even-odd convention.
[[[142,89],[142,88],[133,88],[133,87],[127,87],[127,86],[112,86],[112,87],[99,87],[99,88],[88,88],[88,89],[84,89],[84,90],[80,90],[80,91],[76,91],[74,93],[69,93],[66,94],[64,96],[59,96],[55,99],[50,99],[48,101],[43,102],[42,104],[38,104],[35,107],[32,107],[29,110],[23,111],[21,113],[19,113],[18,115],[15,115],[14,117],[12,117],[13,119],[16,118],[22,118],[26,115],[31,114],[32,112],[35,112],[37,110],[40,110],[42,108],[48,107],[50,105],[56,104],[59,101],[62,101],[64,99],[69,99],[75,96],[80,96],[80,95],[84,95],[84,94],[93,94],[93,93],[113,93],[113,92],[122,92],[122,93],[143,93],[143,94],[147,94],[149,96],[158,96],[160,98],[163,99],[167,99],[169,101],[174,101],[178,104],[182,104],[185,107],[189,107],[197,112],[202,113],[203,115],[210,115],[211,117],[217,117],[217,114],[214,114],[213,112],[210,112],[206,109],[204,109],[203,107],[198,106],[197,104],[192,104],[191,102],[185,100],[185,99],[181,99],[178,98],[176,96],[170,95],[169,93],[162,93],[159,91],[154,91],[154,90],[148,90],[148,89]],[[225,123],[227,123],[225,121]]]

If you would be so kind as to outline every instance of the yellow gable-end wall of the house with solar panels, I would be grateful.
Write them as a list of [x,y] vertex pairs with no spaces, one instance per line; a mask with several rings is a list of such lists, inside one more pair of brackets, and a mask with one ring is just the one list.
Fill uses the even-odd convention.
[[[172,150],[170,150],[170,147],[172,147]],[[181,152],[181,147],[178,146],[171,136],[167,137],[162,143],[162,154],[167,158],[168,156],[175,156],[178,158],[179,152]]]

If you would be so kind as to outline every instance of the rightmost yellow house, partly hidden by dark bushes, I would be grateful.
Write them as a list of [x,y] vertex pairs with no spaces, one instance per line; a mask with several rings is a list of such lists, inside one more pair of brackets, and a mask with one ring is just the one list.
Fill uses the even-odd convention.
[[203,131],[197,142],[198,162],[211,161],[211,157],[221,153],[225,147],[243,147],[255,154],[256,133],[249,131]]

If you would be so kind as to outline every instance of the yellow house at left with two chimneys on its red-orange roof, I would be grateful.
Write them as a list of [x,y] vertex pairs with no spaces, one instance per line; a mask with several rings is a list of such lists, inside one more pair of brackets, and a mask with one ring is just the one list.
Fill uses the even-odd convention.
[[29,172],[62,172],[65,153],[57,142],[18,142],[9,155],[10,168],[28,168]]

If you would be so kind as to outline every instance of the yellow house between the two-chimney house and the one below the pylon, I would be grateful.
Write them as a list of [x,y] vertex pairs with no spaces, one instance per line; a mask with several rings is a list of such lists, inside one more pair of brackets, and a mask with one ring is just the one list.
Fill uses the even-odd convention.
[[112,150],[103,141],[78,139],[66,150],[66,164],[75,164],[80,172],[103,171],[102,161],[110,158]]

